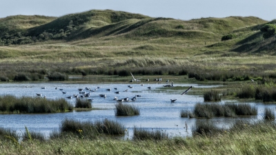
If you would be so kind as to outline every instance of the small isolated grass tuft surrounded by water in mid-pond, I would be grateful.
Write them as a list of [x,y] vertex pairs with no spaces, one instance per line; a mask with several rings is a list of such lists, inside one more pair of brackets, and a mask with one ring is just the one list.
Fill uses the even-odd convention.
[[116,103],[115,108],[116,116],[133,116],[140,114],[139,107],[127,103]]

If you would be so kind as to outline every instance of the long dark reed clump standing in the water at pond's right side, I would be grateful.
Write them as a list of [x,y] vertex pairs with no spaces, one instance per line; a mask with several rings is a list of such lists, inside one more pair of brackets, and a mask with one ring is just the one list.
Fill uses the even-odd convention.
[[239,115],[257,115],[257,107],[246,103],[197,103],[193,112],[181,110],[181,117],[206,117],[214,116],[236,117]]

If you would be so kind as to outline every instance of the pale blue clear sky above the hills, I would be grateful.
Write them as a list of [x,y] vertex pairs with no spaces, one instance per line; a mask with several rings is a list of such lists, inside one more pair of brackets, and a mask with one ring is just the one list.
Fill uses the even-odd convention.
[[88,10],[116,10],[190,20],[254,16],[276,19],[276,0],[0,0],[0,18],[12,15],[61,17]]

